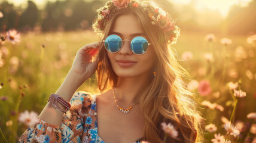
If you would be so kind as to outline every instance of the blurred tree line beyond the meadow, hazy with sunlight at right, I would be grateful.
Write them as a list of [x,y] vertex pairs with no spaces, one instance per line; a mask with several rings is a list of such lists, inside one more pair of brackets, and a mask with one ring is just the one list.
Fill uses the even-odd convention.
[[[28,7],[14,7],[8,1],[2,2],[0,11],[4,17],[0,19],[0,30],[19,29],[28,31],[40,29],[42,31],[88,29],[96,17],[96,10],[106,1],[48,1],[43,10],[33,1],[28,1]],[[206,10],[200,13],[194,10],[192,0],[190,4],[176,7],[170,1],[162,0],[167,11],[177,19],[181,29],[196,32],[225,32],[233,35],[250,35],[256,32],[256,0],[252,0],[247,7],[233,5],[228,16],[221,18],[218,11]]]

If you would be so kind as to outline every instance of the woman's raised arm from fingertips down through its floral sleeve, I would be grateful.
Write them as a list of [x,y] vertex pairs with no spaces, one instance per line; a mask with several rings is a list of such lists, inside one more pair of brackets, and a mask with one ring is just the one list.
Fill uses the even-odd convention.
[[[80,136],[83,133],[83,117],[80,113],[86,112],[83,107],[88,106],[83,104],[89,94],[74,95],[75,91],[89,79],[96,71],[97,57],[93,61],[93,56],[96,54],[98,42],[90,43],[80,48],[75,56],[71,70],[67,74],[64,82],[55,94],[70,102],[71,108],[63,116],[63,112],[55,107],[45,105],[41,114],[38,116],[38,122],[34,126],[30,126],[22,136],[19,142],[36,141],[44,142],[79,142]],[[50,96],[50,95],[49,95]],[[73,97],[73,98],[72,98]],[[71,100],[72,98],[72,100]],[[87,99],[84,99],[87,98]],[[73,104],[74,103],[74,104]],[[59,107],[65,109],[61,104]]]

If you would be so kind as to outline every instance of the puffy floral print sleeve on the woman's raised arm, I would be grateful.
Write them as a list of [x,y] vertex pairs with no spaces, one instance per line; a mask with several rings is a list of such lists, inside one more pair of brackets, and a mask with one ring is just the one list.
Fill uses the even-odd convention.
[[84,120],[92,105],[89,92],[75,92],[71,108],[63,116],[60,126],[51,125],[41,119],[20,136],[19,142],[81,142]]

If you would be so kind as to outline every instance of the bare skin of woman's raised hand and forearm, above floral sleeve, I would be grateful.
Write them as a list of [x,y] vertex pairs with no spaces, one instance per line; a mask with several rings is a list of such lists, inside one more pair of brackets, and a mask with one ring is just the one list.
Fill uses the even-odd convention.
[[[64,100],[69,102],[75,91],[95,73],[96,62],[93,61],[93,56],[96,54],[97,48],[99,48],[98,44],[99,42],[89,43],[77,51],[71,70],[69,70],[64,82],[56,92]],[[91,52],[94,54],[91,54]],[[60,104],[59,106],[65,109]],[[49,108],[48,104],[39,115],[39,119],[53,125],[60,125],[62,117],[62,111],[59,111],[57,108]]]

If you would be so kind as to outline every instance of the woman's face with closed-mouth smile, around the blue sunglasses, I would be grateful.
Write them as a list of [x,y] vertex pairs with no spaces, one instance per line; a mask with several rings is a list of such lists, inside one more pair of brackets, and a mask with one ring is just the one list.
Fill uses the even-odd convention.
[[107,52],[115,74],[119,77],[154,76],[153,71],[156,68],[157,57],[153,45],[149,45],[147,51],[142,55],[133,54],[130,49],[130,41],[135,36],[143,36],[150,43],[147,35],[139,27],[139,21],[135,15],[120,15],[113,24],[109,35],[118,35],[122,40],[129,39],[129,41],[123,41],[120,51]]

